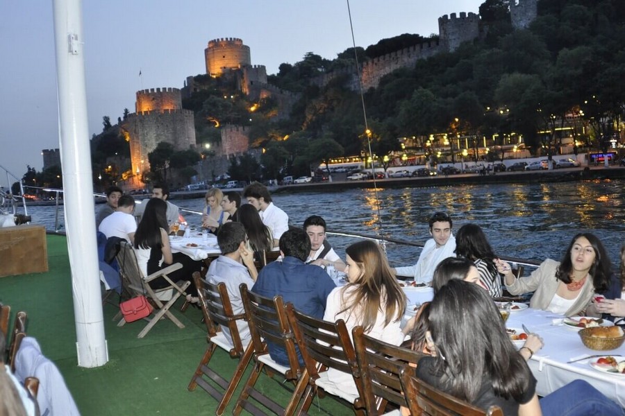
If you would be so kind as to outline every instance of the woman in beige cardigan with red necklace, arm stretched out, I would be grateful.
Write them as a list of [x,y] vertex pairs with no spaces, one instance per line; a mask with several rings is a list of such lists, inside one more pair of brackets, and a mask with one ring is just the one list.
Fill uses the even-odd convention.
[[496,264],[510,294],[535,291],[530,300],[532,308],[567,316],[594,314],[586,309],[596,291],[608,290],[611,273],[606,249],[590,233],[573,237],[562,262],[547,259],[529,277],[516,279],[508,263],[498,260]]

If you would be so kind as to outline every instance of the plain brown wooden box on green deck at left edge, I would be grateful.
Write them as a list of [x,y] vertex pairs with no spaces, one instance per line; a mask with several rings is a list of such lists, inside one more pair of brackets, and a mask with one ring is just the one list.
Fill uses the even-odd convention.
[[0,228],[0,277],[47,271],[48,249],[43,225]]

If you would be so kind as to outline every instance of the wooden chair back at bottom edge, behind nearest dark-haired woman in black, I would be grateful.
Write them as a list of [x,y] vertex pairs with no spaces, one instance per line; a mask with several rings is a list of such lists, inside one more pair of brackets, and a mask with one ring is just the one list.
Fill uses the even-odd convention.
[[406,365],[399,372],[403,395],[410,415],[424,416],[503,416],[499,406],[487,410],[442,392],[415,376],[415,369]]

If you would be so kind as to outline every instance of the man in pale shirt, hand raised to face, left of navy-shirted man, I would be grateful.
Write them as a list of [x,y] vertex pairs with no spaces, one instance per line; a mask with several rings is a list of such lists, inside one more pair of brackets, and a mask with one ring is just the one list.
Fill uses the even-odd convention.
[[[254,266],[253,252],[246,248],[247,236],[245,229],[240,223],[226,223],[219,227],[217,232],[217,244],[222,255],[213,260],[208,267],[206,280],[212,284],[224,282],[230,297],[232,311],[235,315],[244,313],[241,300],[240,284],[246,284],[251,289],[258,277],[258,271]],[[241,343],[249,343],[249,325],[245,320],[238,320],[237,327]],[[230,330],[222,327],[224,336],[232,343]]]

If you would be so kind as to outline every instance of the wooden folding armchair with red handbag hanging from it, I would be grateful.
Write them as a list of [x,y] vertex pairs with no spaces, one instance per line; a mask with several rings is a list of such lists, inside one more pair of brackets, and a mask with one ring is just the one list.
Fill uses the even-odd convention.
[[[148,324],[142,329],[137,338],[143,338],[156,322],[165,316],[174,322],[178,328],[184,328],[185,325],[180,322],[169,309],[174,305],[176,300],[178,300],[178,297],[186,295],[185,289],[189,287],[191,282],[178,281],[178,283],[174,283],[167,275],[167,273],[182,268],[181,263],[174,263],[172,266],[158,270],[158,272],[152,273],[149,276],[144,276],[137,263],[137,257],[135,256],[135,250],[132,245],[126,241],[122,241],[120,245],[121,248],[119,253],[117,253],[117,262],[119,263],[119,270],[122,273],[122,286],[133,296],[147,296],[149,300],[151,300],[151,303],[156,306],[153,317],[151,319],[145,318],[148,320]],[[151,288],[150,281],[158,279],[159,277],[163,277],[163,279],[167,280],[169,286],[158,289]],[[163,302],[165,301],[160,300],[158,295],[167,293],[168,291],[170,291],[172,295],[169,301],[164,304]],[[115,319],[117,319],[117,317],[119,317],[119,314],[117,314]],[[126,321],[122,317],[117,323],[117,326],[122,327],[125,323]]]

